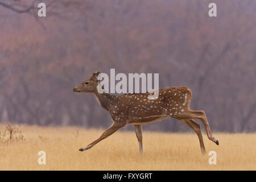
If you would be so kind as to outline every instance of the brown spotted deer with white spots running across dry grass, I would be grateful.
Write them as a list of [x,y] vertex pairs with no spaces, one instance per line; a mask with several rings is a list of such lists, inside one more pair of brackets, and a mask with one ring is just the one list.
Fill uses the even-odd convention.
[[205,154],[203,136],[199,123],[194,119],[200,119],[205,127],[207,136],[218,145],[218,140],[212,136],[209,123],[203,110],[196,111],[189,109],[192,93],[185,86],[168,87],[159,89],[159,95],[155,100],[149,100],[150,93],[123,94],[114,96],[108,93],[98,93],[97,86],[100,80],[97,79],[100,72],[94,72],[89,80],[77,85],[73,91],[78,93],[93,93],[100,105],[109,111],[113,124],[100,138],[82,147],[79,151],[92,148],[101,140],[109,137],[115,131],[125,125],[134,125],[135,133],[139,142],[139,151],[142,147],[142,125],[146,123],[160,121],[166,117],[172,117],[193,129],[200,142],[201,152]]

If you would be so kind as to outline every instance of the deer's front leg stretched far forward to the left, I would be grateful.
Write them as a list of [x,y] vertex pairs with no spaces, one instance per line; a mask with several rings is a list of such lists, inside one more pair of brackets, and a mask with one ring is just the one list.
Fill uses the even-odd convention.
[[79,149],[79,151],[85,151],[88,150],[90,148],[92,148],[95,144],[97,144],[98,142],[100,142],[101,140],[109,137],[110,135],[112,135],[113,133],[115,133],[115,131],[117,131],[118,129],[120,129],[121,127],[125,126],[125,123],[121,123],[121,122],[114,122],[109,129],[107,129],[106,131],[104,131],[104,133],[101,135],[100,138],[98,138],[97,140],[95,140],[94,142],[88,144],[88,146],[86,147],[82,147]]

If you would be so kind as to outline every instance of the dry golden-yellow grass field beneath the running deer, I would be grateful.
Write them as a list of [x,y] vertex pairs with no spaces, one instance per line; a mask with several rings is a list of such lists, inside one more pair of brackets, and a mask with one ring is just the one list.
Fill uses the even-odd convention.
[[[97,139],[103,130],[76,127],[19,126],[22,133],[8,142],[1,126],[1,170],[255,170],[256,134],[214,133],[217,146],[204,134],[206,155],[201,155],[195,133],[143,135],[144,154],[134,132],[117,131],[88,151],[79,148]],[[16,136],[16,138],[15,138]],[[46,165],[38,164],[38,152],[46,152]],[[217,152],[210,165],[209,151]]]

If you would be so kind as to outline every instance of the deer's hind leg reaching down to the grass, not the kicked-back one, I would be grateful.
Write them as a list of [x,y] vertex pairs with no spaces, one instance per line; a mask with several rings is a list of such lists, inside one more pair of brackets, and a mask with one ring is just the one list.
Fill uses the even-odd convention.
[[199,123],[197,123],[194,119],[180,119],[179,121],[191,127],[191,129],[193,129],[196,132],[197,137],[199,138],[201,152],[204,155],[205,154],[204,140],[203,140],[203,135],[201,133],[201,127]]

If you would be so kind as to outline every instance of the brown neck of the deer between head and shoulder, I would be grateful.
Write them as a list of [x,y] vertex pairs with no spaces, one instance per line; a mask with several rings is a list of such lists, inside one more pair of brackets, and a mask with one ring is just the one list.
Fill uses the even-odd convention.
[[109,110],[109,107],[112,106],[113,101],[115,100],[116,96],[113,96],[109,93],[93,93],[96,97],[96,100],[99,104],[106,110]]

